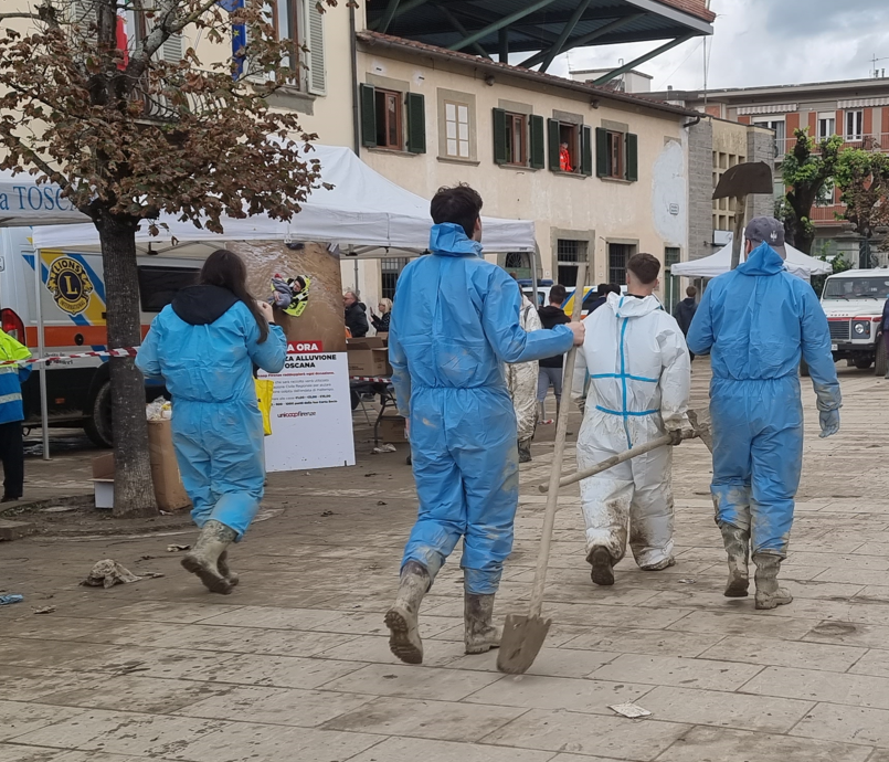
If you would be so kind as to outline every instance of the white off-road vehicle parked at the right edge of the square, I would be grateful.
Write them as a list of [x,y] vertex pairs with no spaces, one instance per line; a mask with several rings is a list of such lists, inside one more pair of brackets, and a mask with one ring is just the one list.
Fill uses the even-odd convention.
[[830,328],[834,360],[847,360],[865,370],[876,366],[885,375],[889,358],[880,322],[889,298],[889,268],[847,269],[824,283],[822,308]]

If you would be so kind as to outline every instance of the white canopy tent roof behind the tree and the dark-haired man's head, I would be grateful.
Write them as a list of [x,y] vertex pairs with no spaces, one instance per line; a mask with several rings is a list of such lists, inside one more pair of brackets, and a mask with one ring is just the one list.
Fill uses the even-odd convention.
[[[361,247],[363,256],[391,256],[385,254],[387,248],[425,251],[432,225],[426,199],[391,182],[348,148],[315,146],[308,156],[320,160],[321,181],[334,188],[314,190],[290,222],[265,214],[243,220],[225,218],[224,233],[216,234],[163,215],[158,222],[168,229],[161,227],[160,235],[152,236],[144,223],[136,236],[137,245],[146,247],[151,243],[155,251],[169,247],[165,252],[168,255],[184,254],[182,250],[189,243],[215,247],[224,241],[314,241],[343,248]],[[483,224],[487,252],[535,251],[531,220],[483,218]],[[98,250],[98,233],[92,223],[50,225],[33,229],[34,248]]]

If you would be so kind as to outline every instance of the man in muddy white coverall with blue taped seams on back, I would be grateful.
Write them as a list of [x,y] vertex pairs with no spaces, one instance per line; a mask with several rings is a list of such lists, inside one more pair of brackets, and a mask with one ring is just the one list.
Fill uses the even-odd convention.
[[[688,427],[691,366],[682,331],[653,295],[660,263],[635,254],[626,272],[627,294],[608,294],[584,320],[586,338],[572,384],[584,409],[579,470],[666,432],[679,444]],[[639,568],[657,571],[675,563],[671,449],[658,447],[581,481],[586,561],[596,584],[614,584],[613,567],[626,552],[627,535]]]

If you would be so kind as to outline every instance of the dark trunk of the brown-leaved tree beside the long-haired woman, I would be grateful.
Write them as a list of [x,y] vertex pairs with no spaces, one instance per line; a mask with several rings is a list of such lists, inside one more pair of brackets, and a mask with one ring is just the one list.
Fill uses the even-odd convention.
[[[100,214],[96,227],[102,242],[108,347],[138,347],[139,281],[136,269],[136,225],[133,218]],[[114,432],[114,515],[156,516],[157,504],[148,461],[145,380],[134,358],[110,359],[112,431]]]

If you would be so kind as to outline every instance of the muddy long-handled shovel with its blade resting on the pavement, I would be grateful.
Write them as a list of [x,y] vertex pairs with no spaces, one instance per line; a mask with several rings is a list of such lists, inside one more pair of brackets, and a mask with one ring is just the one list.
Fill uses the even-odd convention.
[[[583,287],[586,284],[586,265],[578,265],[578,282],[574,292],[574,309],[572,320],[580,320],[583,309]],[[574,359],[578,350],[573,348],[565,356],[562,378],[567,380],[568,389],[574,378]],[[540,538],[540,551],[537,554],[537,569],[535,583],[531,588],[531,605],[527,616],[508,614],[504,625],[504,636],[500,641],[500,650],[497,655],[497,669],[510,675],[521,675],[528,670],[547,638],[552,620],[540,616],[543,607],[543,588],[547,583],[547,564],[550,558],[550,542],[552,541],[552,526],[555,522],[555,509],[559,500],[559,479],[562,476],[562,456],[565,449],[565,432],[568,431],[568,413],[570,405],[560,406],[559,420],[555,422],[555,446],[552,452],[552,469],[550,470],[550,487],[547,496],[547,510],[543,515],[543,533]]]

